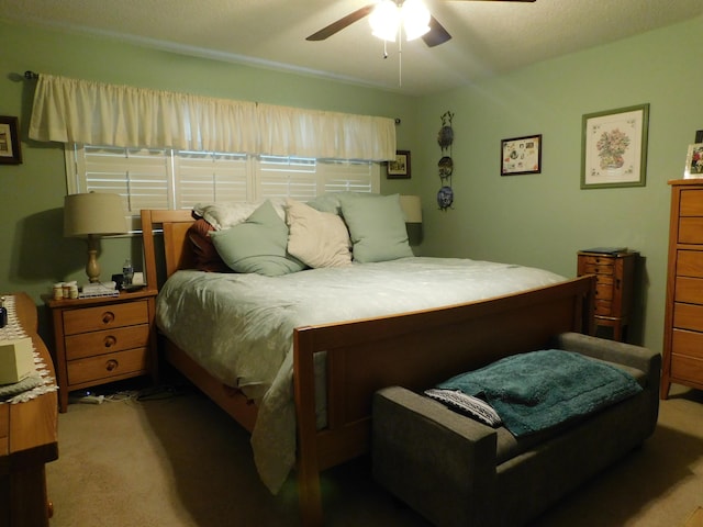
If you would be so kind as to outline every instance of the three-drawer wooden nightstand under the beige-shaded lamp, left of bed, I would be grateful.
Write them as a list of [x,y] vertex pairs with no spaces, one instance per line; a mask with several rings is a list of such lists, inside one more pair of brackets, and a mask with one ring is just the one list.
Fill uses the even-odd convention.
[[42,296],[52,313],[60,412],[66,412],[74,390],[145,374],[158,382],[156,294],[144,290],[78,300]]

